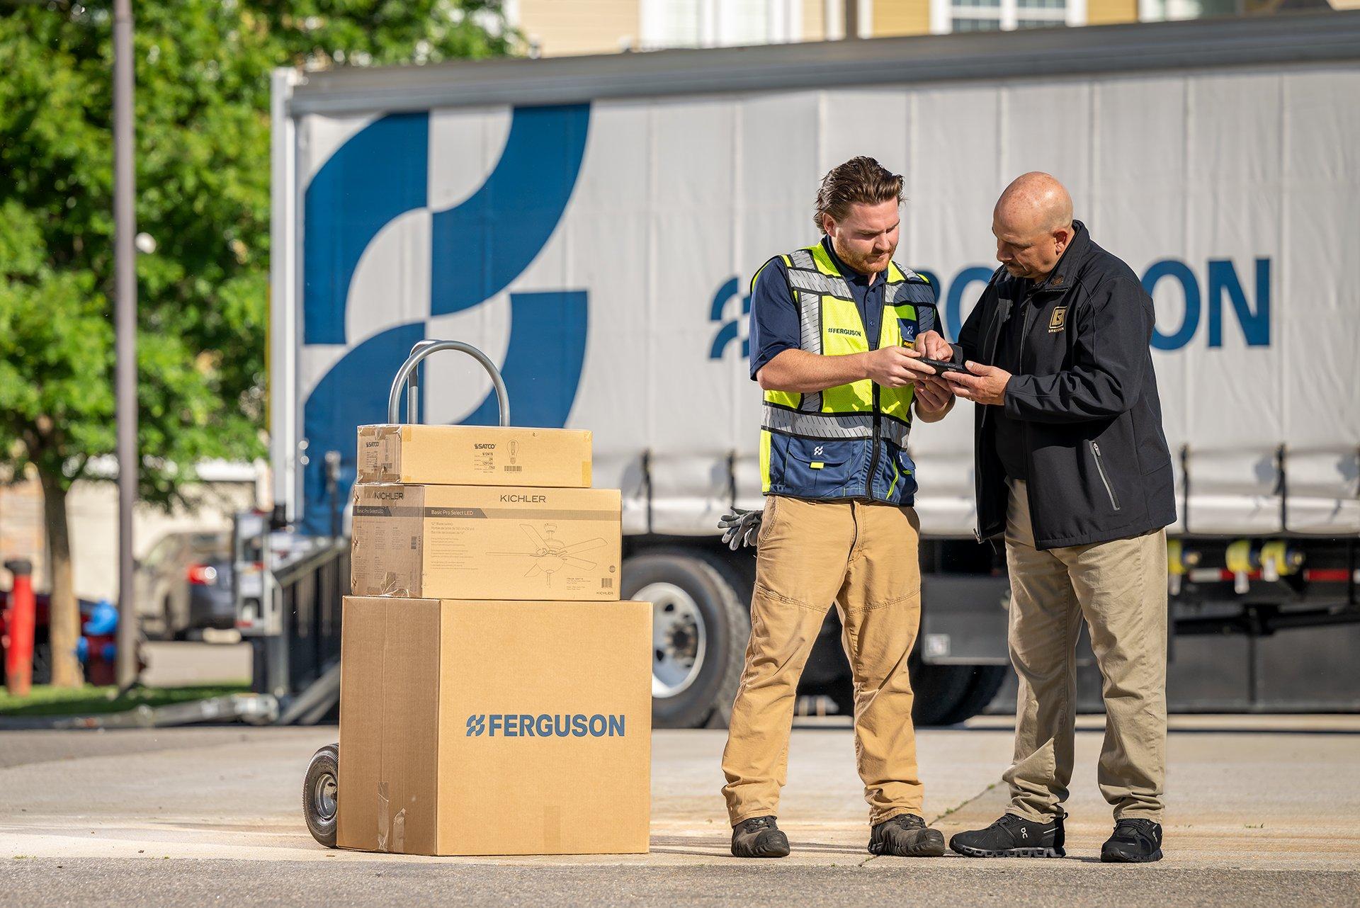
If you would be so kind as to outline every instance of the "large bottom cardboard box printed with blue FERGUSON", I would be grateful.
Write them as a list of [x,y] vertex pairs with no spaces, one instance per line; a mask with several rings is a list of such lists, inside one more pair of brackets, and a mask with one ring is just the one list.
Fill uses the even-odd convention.
[[647,851],[651,606],[344,601],[337,844]]

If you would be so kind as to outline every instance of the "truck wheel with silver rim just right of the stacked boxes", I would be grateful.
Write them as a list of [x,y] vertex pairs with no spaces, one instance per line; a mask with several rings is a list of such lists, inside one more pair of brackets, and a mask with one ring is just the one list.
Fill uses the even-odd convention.
[[692,549],[651,549],[623,563],[626,599],[653,604],[651,723],[725,726],[751,633],[741,574]]

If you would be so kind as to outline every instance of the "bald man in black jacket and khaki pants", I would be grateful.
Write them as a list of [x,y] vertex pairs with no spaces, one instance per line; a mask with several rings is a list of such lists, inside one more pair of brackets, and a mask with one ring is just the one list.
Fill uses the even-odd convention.
[[1010,661],[1020,677],[1010,806],[951,847],[972,856],[1061,856],[1072,779],[1081,623],[1104,678],[1100,791],[1115,829],[1100,856],[1161,858],[1166,778],[1167,544],[1171,454],[1148,343],[1153,309],[1133,270],[1072,219],[1049,174],[1025,174],[993,213],[997,258],[949,347],[947,372],[975,409],[978,536],[1004,536]]

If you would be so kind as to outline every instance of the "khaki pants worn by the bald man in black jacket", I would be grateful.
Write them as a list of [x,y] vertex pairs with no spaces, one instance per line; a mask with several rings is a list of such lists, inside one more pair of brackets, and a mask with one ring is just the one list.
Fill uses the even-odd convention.
[[1006,514],[1010,662],[1020,676],[1010,813],[1046,822],[1068,798],[1083,618],[1104,681],[1100,794],[1114,816],[1161,821],[1167,767],[1167,533],[1040,552],[1025,484]]

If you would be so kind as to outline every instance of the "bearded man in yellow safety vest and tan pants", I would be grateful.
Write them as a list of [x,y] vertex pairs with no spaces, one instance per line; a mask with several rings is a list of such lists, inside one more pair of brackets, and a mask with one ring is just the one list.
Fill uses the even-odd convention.
[[936,325],[936,291],[892,261],[900,207],[902,177],[872,158],[847,160],[817,193],[821,241],[771,258],[752,280],[767,497],[749,534],[751,640],[722,754],[738,858],[789,854],[775,816],[798,676],[832,602],[854,676],[869,851],[944,854],[944,836],[921,816],[911,726],[921,572],[907,432],[914,417],[941,419],[953,397],[913,348]]

